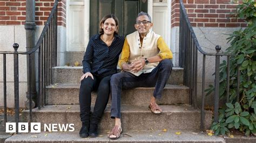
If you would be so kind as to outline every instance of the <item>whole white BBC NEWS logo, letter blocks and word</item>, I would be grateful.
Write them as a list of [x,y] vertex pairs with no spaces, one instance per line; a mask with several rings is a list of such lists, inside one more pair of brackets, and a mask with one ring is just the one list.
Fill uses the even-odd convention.
[[[45,132],[73,132],[75,131],[74,124],[44,124]],[[16,123],[5,124],[6,133],[16,133]],[[18,123],[18,133],[28,133],[29,123]],[[30,123],[31,133],[41,133],[41,123]]]

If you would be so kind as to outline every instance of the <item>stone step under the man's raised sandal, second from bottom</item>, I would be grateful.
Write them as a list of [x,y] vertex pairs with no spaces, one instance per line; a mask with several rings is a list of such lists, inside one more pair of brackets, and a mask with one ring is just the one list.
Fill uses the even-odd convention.
[[[163,113],[153,114],[146,105],[122,105],[123,130],[199,130],[200,111],[194,110],[189,105],[161,105]],[[93,107],[91,108],[93,109]],[[114,119],[110,118],[110,106],[99,124],[99,129],[110,130],[114,126]],[[33,109],[33,121],[43,124],[74,124],[75,131],[80,130],[79,105],[46,105],[41,110]],[[29,120],[29,110],[22,112],[22,121]],[[204,125],[209,128],[212,112],[205,112]]]

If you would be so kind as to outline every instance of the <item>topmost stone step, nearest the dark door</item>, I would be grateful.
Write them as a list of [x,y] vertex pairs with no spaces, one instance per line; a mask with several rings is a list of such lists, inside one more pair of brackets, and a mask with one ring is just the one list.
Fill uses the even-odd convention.
[[[80,83],[83,67],[54,67],[53,83]],[[174,67],[167,84],[183,84],[183,68]]]

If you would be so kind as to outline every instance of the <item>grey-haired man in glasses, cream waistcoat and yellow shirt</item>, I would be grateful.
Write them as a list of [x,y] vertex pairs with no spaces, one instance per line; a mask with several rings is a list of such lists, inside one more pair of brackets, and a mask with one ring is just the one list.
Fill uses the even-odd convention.
[[162,91],[172,70],[172,52],[160,35],[150,30],[153,26],[151,17],[140,12],[134,27],[137,31],[127,35],[122,49],[122,56],[118,62],[125,72],[111,77],[111,118],[115,119],[115,126],[108,137],[118,139],[121,128],[121,90],[122,88],[155,87],[150,99],[149,109],[153,113],[161,113],[156,99],[161,98]]

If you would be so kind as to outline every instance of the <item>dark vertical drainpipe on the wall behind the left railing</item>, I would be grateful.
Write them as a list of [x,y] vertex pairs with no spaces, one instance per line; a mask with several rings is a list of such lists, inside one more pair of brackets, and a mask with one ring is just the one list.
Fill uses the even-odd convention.
[[[35,0],[26,1],[26,51],[30,51],[35,46]],[[26,92],[26,101],[25,106],[26,108],[30,108],[29,106],[29,95],[32,96],[32,108],[36,107],[36,68],[35,68],[35,53],[31,54],[31,65],[32,65],[32,72],[29,73],[29,55],[26,56],[27,60],[27,78],[30,81],[29,76],[31,75],[31,89],[28,82],[28,91]],[[30,74],[30,75],[29,75]],[[31,91],[31,93],[30,93]]]

